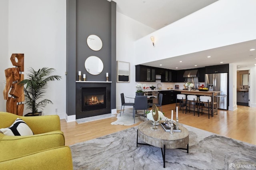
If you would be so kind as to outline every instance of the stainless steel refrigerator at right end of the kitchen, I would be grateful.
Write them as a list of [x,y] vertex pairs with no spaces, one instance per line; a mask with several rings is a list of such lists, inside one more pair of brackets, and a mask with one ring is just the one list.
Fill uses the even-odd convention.
[[209,91],[221,91],[217,95],[218,109],[228,110],[228,73],[205,74],[205,86]]

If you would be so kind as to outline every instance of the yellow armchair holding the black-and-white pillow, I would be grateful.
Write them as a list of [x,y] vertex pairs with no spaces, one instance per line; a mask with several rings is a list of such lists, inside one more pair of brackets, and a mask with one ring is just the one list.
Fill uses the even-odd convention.
[[65,145],[58,115],[22,117],[0,112],[0,128],[10,127],[17,118],[25,121],[34,135],[6,136],[0,133],[0,162]]

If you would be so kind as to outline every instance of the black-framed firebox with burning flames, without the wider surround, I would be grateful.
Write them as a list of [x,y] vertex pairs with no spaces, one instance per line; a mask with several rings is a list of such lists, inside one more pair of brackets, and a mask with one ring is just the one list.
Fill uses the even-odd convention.
[[82,87],[82,112],[106,108],[106,87]]

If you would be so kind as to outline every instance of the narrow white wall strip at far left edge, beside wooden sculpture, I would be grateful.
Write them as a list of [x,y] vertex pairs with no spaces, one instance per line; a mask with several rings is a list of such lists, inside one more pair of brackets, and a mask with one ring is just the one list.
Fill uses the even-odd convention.
[[[0,91],[1,94],[5,87],[5,73],[8,60],[11,56],[8,55],[8,0],[0,1]],[[6,111],[6,100],[3,95],[0,95],[0,111]]]

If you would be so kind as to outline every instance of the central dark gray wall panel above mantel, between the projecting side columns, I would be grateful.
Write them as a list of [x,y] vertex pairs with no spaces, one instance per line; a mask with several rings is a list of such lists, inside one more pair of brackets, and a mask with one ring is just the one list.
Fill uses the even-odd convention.
[[[86,74],[87,81],[106,81],[111,75],[111,3],[107,0],[76,0],[76,71]],[[93,51],[87,37],[96,35],[102,40],[102,49]],[[91,75],[84,67],[90,56],[99,57],[104,65],[102,73]]]

